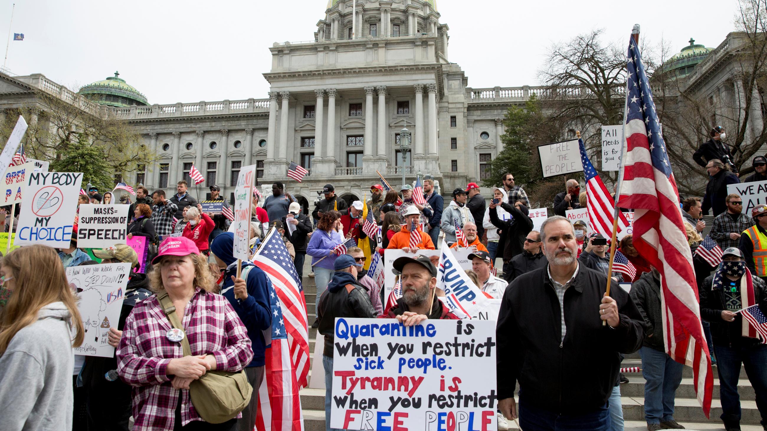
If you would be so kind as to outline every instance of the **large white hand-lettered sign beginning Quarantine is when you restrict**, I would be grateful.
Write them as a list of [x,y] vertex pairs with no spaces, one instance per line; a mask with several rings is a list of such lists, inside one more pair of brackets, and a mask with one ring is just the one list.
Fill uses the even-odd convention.
[[494,321],[337,317],[334,337],[332,428],[497,429]]

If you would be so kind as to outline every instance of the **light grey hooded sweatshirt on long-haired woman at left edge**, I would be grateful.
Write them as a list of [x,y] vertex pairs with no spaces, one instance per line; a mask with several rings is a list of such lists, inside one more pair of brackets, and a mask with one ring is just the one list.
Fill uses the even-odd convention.
[[51,302],[18,331],[0,357],[2,429],[69,430],[72,426],[71,314]]

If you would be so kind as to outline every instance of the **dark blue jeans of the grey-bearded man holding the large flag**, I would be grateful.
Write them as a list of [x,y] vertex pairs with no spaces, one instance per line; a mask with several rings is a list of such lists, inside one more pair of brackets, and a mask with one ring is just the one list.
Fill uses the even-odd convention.
[[[607,404],[588,413],[560,414],[528,406],[524,393],[519,395],[519,426],[525,431],[610,431],[610,409]],[[622,428],[621,428],[622,429]]]

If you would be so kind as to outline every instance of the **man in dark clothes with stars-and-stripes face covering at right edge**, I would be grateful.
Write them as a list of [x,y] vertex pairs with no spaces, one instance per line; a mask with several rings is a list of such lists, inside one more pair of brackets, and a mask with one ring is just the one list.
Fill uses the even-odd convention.
[[722,400],[719,417],[727,431],[740,429],[738,379],[742,364],[756,393],[762,426],[767,426],[767,345],[759,343],[758,334],[740,313],[749,304],[758,305],[762,314],[767,312],[767,287],[761,278],[747,271],[739,249],[727,248],[722,261],[714,275],[709,275],[698,289],[700,316],[711,323]]

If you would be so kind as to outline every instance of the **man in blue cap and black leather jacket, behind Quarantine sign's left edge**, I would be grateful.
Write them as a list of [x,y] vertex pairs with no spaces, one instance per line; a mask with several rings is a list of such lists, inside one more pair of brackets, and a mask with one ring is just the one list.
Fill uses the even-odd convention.
[[325,429],[331,428],[331,395],[333,392],[333,342],[336,317],[376,317],[370,294],[357,283],[357,270],[362,264],[350,255],[336,258],[335,273],[328,283],[328,294],[323,294],[317,308],[320,334],[325,336],[322,365],[325,369]]

